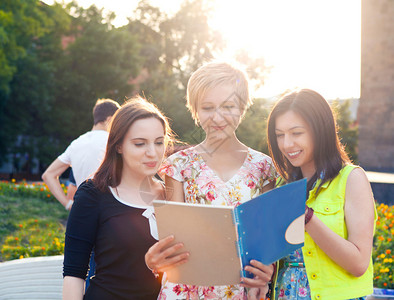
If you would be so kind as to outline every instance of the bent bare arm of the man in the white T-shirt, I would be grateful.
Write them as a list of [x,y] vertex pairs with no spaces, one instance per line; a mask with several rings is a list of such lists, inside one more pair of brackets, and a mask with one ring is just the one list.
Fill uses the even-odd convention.
[[60,159],[56,159],[49,167],[45,170],[44,174],[42,174],[42,179],[48,186],[51,193],[55,196],[55,198],[66,207],[68,203],[68,199],[63,192],[62,186],[59,182],[59,176],[67,170],[69,167],[68,164],[63,163]]

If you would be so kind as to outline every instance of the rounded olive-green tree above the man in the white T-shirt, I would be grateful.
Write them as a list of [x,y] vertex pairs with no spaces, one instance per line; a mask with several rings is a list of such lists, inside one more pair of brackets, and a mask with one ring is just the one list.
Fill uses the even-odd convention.
[[98,98],[123,102],[132,91],[129,79],[139,73],[141,60],[136,38],[111,25],[114,15],[104,16],[95,6],[83,9],[75,3],[67,10],[73,12],[71,42],[58,60],[52,113],[62,116],[57,134],[70,141],[91,128]]

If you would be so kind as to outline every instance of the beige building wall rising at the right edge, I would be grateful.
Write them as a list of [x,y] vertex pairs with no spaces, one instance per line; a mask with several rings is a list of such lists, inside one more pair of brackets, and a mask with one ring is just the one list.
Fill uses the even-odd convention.
[[[361,11],[359,161],[394,173],[394,0],[362,0]],[[384,186],[375,197],[393,203],[394,185]]]

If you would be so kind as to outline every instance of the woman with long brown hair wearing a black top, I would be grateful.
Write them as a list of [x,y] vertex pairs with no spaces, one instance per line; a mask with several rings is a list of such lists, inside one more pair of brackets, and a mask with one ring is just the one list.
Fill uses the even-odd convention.
[[[104,161],[74,197],[63,299],[157,299],[160,283],[144,255],[157,238],[151,204],[164,199],[164,186],[154,175],[170,140],[167,119],[145,99],[132,99],[115,114]],[[96,274],[84,295],[93,247]]]

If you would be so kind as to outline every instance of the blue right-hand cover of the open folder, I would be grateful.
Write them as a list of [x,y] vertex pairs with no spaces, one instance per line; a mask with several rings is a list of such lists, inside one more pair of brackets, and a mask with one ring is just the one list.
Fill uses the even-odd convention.
[[[269,265],[301,248],[285,239],[289,225],[305,213],[306,179],[273,189],[234,208],[242,265]],[[242,276],[252,277],[243,271]]]

